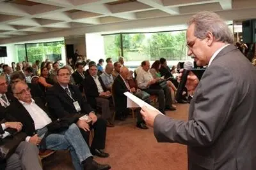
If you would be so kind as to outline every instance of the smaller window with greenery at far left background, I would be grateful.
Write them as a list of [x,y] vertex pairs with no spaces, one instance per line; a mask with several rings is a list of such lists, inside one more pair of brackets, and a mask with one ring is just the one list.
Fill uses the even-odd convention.
[[24,45],[15,45],[19,62],[26,60],[34,63],[36,60],[49,59],[51,61],[61,60],[63,53],[64,41],[56,41],[50,43],[29,43]]

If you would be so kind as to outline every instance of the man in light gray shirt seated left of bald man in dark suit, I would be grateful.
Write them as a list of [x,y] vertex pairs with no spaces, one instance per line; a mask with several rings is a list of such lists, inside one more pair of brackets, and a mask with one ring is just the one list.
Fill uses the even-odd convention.
[[113,83],[113,81],[114,81],[113,76],[112,76],[112,74],[111,74],[112,71],[113,71],[113,69],[114,69],[113,64],[108,63],[108,64],[106,65],[105,71],[104,71],[102,74],[100,74],[101,80],[103,81],[105,87],[106,87],[108,90],[111,90],[111,85],[112,85],[112,83]]

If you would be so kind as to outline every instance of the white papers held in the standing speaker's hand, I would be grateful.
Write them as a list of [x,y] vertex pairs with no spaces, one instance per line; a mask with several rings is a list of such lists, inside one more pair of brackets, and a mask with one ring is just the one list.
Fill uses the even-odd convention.
[[[143,106],[146,106],[150,110],[155,110],[158,113],[161,113],[161,111],[157,110],[153,106],[151,106],[148,103],[145,103],[145,101],[141,100],[140,98],[134,96],[130,92],[125,92],[125,96],[127,96],[127,108],[142,108]],[[161,113],[163,115],[163,113]]]

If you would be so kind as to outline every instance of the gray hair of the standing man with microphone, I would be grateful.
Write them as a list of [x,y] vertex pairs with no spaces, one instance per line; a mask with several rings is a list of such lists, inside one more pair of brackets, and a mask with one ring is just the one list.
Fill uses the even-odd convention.
[[234,43],[234,36],[224,20],[216,13],[201,11],[196,13],[188,21],[188,25],[195,24],[194,35],[197,38],[206,38],[207,32],[211,32],[216,41]]

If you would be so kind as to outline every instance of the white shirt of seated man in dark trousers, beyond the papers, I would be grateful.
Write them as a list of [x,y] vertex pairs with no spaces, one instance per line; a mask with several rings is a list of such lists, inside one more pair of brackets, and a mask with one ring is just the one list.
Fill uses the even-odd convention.
[[153,79],[154,78],[149,71],[145,71],[144,69],[141,69],[140,73],[137,75],[138,87],[140,89],[147,89],[148,82]]

